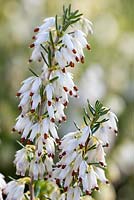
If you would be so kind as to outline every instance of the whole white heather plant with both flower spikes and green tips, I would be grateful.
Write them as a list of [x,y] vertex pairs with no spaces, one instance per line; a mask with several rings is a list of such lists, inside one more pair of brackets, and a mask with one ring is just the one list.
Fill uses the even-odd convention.
[[117,134],[116,115],[98,100],[94,106],[88,100],[82,125],[75,122],[76,131],[58,135],[69,98],[78,98],[69,68],[84,63],[92,23],[69,5],[62,16],[44,19],[34,33],[29,62],[41,62],[42,68],[39,74],[30,68],[32,75],[16,95],[20,115],[13,132],[21,135],[21,149],[14,164],[19,178],[6,184],[0,175],[0,199],[4,194],[7,200],[79,200],[99,190],[100,182],[108,183],[105,148],[110,134]]

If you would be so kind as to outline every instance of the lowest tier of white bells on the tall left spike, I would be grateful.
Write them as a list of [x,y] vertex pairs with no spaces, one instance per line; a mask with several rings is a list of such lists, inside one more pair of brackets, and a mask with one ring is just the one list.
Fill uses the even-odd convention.
[[[49,149],[49,147],[47,148]],[[34,145],[26,145],[17,151],[14,163],[18,175],[25,176],[26,171],[29,171],[29,176],[34,177],[35,180],[43,179],[44,175],[47,177],[52,173],[52,157],[48,156],[45,148],[39,155]]]

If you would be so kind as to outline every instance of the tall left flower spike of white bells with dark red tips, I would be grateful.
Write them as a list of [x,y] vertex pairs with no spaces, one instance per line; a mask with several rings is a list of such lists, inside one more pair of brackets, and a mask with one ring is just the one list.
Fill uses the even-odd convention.
[[[21,175],[25,175],[29,167],[29,171],[33,170],[31,165],[35,166],[36,162],[41,165],[44,152],[49,159],[54,157],[55,145],[60,142],[57,124],[66,121],[64,109],[69,102],[68,96],[78,97],[78,88],[67,67],[74,67],[76,62],[84,62],[83,48],[90,49],[90,46],[86,40],[87,31],[84,33],[81,29],[86,23],[88,32],[91,33],[92,28],[91,22],[82,18],[78,11],[67,12],[68,16],[65,14],[62,25],[59,24],[61,19],[56,16],[45,19],[41,26],[34,29],[37,34],[33,37],[34,43],[30,45],[34,50],[29,61],[44,62],[41,74],[37,75],[31,70],[33,76],[24,80],[17,92],[21,114],[13,131],[21,134],[21,142],[27,140],[28,144],[36,146],[35,159],[30,161],[32,164],[23,160],[27,157],[27,148],[17,152],[15,164],[17,173]],[[72,16],[81,29],[72,26],[67,30],[68,24],[75,23],[71,21]],[[34,175],[34,172],[31,174]]]

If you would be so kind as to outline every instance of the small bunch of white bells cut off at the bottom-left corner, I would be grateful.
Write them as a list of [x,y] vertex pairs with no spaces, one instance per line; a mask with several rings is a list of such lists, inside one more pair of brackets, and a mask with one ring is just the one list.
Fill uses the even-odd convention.
[[24,183],[18,181],[10,181],[4,192],[7,194],[6,200],[23,200],[24,198]]

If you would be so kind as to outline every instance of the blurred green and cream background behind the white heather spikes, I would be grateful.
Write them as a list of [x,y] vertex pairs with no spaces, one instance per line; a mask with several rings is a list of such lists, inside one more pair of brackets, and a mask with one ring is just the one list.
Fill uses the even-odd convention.
[[[119,135],[111,136],[107,175],[110,186],[102,186],[97,200],[134,199],[134,1],[133,0],[0,0],[0,172],[15,176],[12,164],[20,146],[11,133],[19,114],[15,97],[20,82],[30,75],[28,48],[33,29],[48,16],[60,14],[72,3],[93,22],[89,37],[92,51],[74,70],[80,98],[70,100],[65,134],[81,123],[88,98],[110,106],[119,118]],[[38,66],[36,66],[38,67]],[[72,112],[73,108],[73,112]]]

